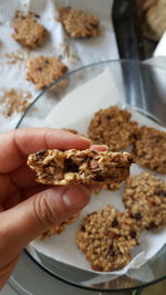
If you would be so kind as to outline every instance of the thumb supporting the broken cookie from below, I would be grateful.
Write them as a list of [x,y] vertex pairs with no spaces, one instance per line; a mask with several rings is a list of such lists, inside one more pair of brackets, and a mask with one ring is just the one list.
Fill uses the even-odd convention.
[[49,228],[77,213],[89,201],[90,191],[83,186],[53,187],[1,212],[0,252],[1,246],[10,247],[11,252],[14,245],[12,251],[18,253]]

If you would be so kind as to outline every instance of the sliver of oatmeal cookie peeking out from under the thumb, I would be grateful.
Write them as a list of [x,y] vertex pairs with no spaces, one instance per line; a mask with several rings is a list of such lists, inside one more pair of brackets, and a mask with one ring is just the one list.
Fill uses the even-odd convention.
[[66,225],[70,225],[73,222],[75,222],[79,219],[79,215],[80,214],[75,214],[75,215],[71,217],[70,219],[63,221],[61,224],[52,226],[49,231],[44,232],[40,236],[40,239],[44,240],[45,238],[49,238],[49,236],[52,236],[55,234],[60,234],[61,232],[63,232],[65,230]]

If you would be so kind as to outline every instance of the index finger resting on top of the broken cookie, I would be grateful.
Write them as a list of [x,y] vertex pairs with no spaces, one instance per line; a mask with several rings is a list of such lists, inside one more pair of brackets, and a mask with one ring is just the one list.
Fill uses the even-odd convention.
[[19,168],[29,154],[42,149],[86,149],[91,141],[65,130],[24,128],[0,135],[0,172]]

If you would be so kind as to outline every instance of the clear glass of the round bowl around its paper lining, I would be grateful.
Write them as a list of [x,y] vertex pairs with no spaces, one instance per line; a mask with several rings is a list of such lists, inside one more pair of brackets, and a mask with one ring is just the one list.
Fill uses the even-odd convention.
[[[17,128],[42,127],[45,116],[63,99],[65,94],[95,77],[106,67],[111,69],[124,105],[166,126],[166,70],[136,61],[105,61],[83,66],[52,83],[28,107]],[[62,83],[65,84],[64,87]],[[80,271],[28,249],[24,251],[39,267],[51,276],[91,291],[126,292],[155,284],[166,277],[166,246],[139,268],[118,277],[113,275],[108,282],[104,281],[104,275],[101,275],[101,280],[98,278],[98,283],[95,284],[93,283],[95,274]]]

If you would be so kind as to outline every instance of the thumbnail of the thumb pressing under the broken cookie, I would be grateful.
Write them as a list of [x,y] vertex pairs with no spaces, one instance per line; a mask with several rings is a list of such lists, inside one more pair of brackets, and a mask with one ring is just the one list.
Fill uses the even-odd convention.
[[90,201],[90,191],[83,186],[71,186],[63,194],[63,202],[70,209],[82,209]]

